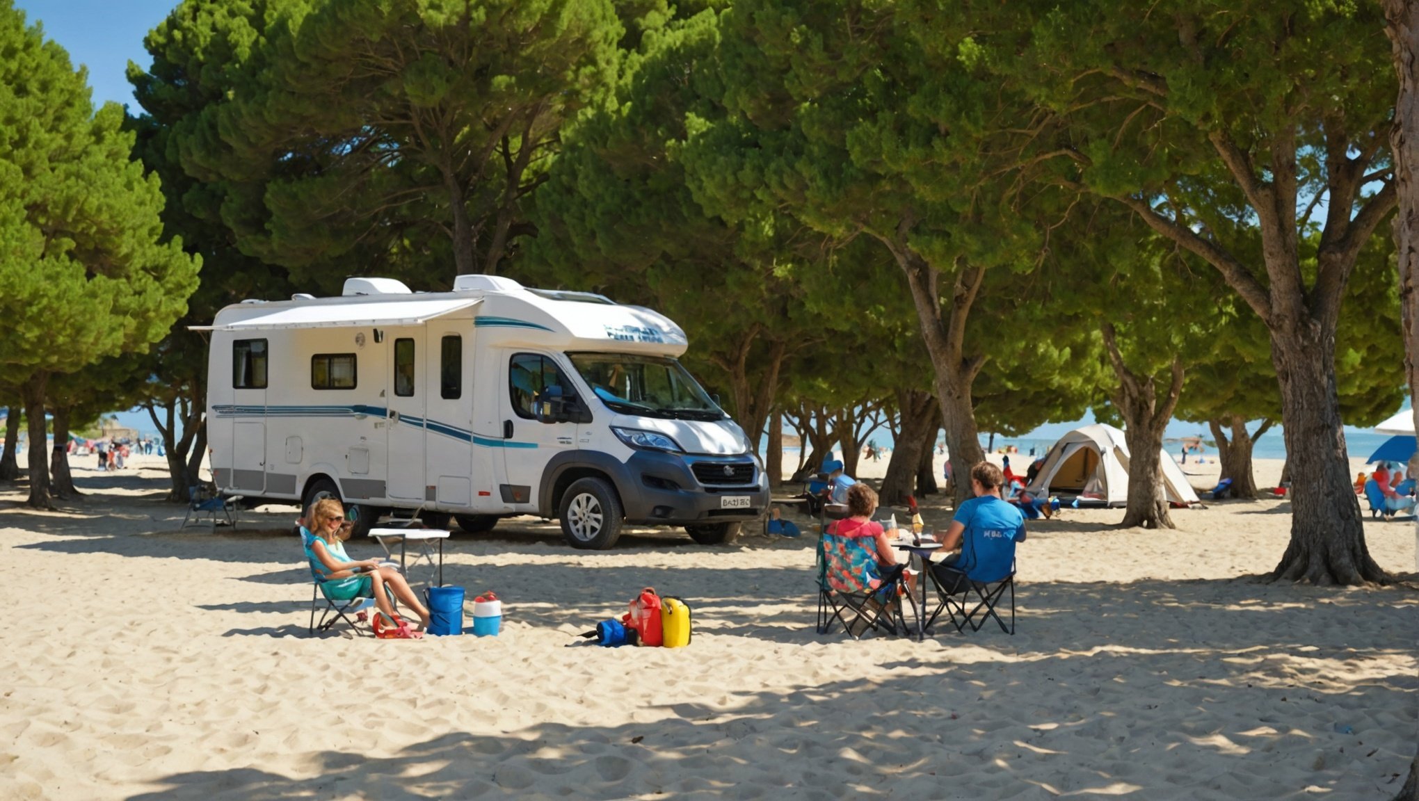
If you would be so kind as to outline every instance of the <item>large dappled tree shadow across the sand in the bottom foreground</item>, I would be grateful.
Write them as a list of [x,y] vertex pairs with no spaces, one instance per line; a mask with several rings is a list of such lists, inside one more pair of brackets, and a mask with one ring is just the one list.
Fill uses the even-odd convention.
[[[1199,676],[1203,656],[1218,659],[1218,668]],[[887,662],[870,680],[800,682],[714,698],[695,698],[691,678],[667,676],[663,683],[687,698],[637,705],[639,722],[453,730],[392,753],[324,749],[301,756],[299,775],[253,767],[177,773],[131,801],[1290,797],[1298,787],[1277,787],[1267,778],[1280,771],[1351,798],[1372,788],[1371,777],[1408,761],[1403,739],[1376,730],[1376,719],[1354,707],[1344,713],[1354,722],[1349,733],[1318,726],[1317,703],[1341,703],[1344,690],[1266,682],[1222,656],[1179,651],[944,665],[900,661]],[[1149,661],[1142,672],[1130,663],[1138,659]],[[1147,688],[1118,679],[1149,673],[1175,678]],[[1403,705],[1412,683],[1376,676],[1365,689],[1376,707]],[[1047,706],[1012,702],[1037,696],[1027,693],[1042,685],[1049,686]],[[616,702],[596,696],[580,702],[593,717],[606,703]],[[1176,713],[1151,715],[1159,707],[1193,712],[1179,722]],[[1274,717],[1270,724],[1242,717],[1232,713],[1237,707]],[[369,716],[369,739],[399,732],[399,717],[397,710]]]

